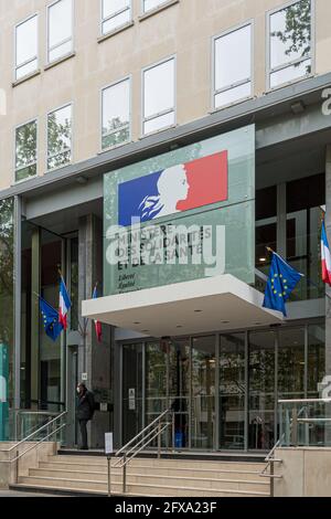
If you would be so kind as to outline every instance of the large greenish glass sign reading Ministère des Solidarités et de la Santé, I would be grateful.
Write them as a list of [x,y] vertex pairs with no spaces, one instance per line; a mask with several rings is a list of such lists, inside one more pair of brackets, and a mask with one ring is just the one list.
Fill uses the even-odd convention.
[[255,279],[255,126],[104,178],[104,295]]

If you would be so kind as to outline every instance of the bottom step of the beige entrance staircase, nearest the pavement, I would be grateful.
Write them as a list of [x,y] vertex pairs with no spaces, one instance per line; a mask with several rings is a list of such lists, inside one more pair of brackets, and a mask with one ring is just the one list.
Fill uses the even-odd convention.
[[[19,478],[19,485],[21,486],[34,486],[39,488],[52,488],[56,489],[70,489],[74,491],[79,488],[81,491],[98,491],[99,494],[107,494],[107,484],[97,483],[93,480],[76,480],[76,479],[64,479],[54,477],[38,477],[38,476],[24,476]],[[121,484],[113,484],[111,491],[116,495],[121,495]],[[140,485],[140,484],[128,484],[127,492],[132,496],[167,496],[167,497],[269,497],[267,491],[252,491],[252,490],[238,490],[238,489],[203,489],[196,487],[172,487],[172,486],[158,486],[158,485]]]

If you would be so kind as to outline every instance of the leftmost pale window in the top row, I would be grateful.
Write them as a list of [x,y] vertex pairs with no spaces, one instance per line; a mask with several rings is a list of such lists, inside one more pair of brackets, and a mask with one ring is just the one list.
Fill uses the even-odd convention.
[[15,27],[15,81],[38,70],[38,14]]

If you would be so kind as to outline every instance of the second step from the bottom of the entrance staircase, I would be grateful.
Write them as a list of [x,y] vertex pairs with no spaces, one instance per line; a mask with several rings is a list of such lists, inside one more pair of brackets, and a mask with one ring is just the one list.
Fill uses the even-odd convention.
[[[107,474],[103,473],[81,473],[70,470],[47,470],[44,468],[32,468],[29,470],[29,476],[55,477],[67,479],[93,479],[94,481],[107,483]],[[148,475],[148,474],[128,474],[128,484],[143,484],[143,485],[166,485],[166,486],[181,486],[212,488],[217,490],[233,489],[233,490],[252,490],[252,491],[269,491],[269,483],[260,478],[259,481],[254,480],[238,480],[229,478],[201,478],[201,477],[182,477],[182,476],[164,476],[164,475]],[[122,481],[121,475],[113,475],[111,481],[120,484]]]

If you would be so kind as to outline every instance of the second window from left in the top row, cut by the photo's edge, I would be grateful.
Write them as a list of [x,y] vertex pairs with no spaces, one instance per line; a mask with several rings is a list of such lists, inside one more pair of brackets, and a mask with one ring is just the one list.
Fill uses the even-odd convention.
[[73,51],[73,0],[58,0],[49,7],[49,63]]

